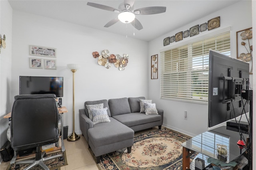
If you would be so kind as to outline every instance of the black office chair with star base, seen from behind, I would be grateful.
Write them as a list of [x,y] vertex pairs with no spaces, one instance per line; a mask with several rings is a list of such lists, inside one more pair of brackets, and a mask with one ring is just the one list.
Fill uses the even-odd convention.
[[[10,119],[11,146],[14,152],[36,148],[34,160],[24,160],[17,164],[31,164],[25,170],[39,165],[44,170],[49,168],[43,161],[62,157],[62,154],[45,157],[41,146],[58,142],[59,113],[56,95],[16,95]],[[14,158],[15,159],[15,158]]]

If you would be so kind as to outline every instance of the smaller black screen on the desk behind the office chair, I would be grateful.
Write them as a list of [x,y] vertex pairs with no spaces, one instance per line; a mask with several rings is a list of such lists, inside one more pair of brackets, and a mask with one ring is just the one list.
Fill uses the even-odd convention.
[[63,97],[63,77],[20,76],[20,95],[33,94]]

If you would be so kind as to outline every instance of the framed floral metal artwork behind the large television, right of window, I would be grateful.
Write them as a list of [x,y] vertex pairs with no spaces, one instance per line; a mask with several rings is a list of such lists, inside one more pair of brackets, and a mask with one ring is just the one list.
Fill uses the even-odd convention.
[[252,74],[252,28],[236,32],[236,55],[238,59],[249,63]]

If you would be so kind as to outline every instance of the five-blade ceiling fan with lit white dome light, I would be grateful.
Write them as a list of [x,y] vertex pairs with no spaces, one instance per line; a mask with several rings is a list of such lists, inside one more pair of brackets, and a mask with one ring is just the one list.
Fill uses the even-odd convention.
[[102,4],[87,2],[88,6],[120,13],[118,14],[118,18],[114,18],[104,26],[106,28],[116,24],[118,21],[121,21],[123,23],[131,23],[134,28],[136,28],[137,30],[141,30],[143,28],[142,24],[139,22],[138,19],[135,18],[135,15],[151,15],[166,12],[166,7],[164,6],[151,6],[134,10],[133,4],[134,0],[124,0],[124,3],[121,3],[118,6],[118,9],[116,9]]

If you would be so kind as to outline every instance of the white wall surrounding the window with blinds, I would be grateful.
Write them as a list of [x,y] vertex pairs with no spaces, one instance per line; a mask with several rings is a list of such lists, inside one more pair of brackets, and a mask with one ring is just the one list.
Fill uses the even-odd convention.
[[[199,12],[199,11],[198,11]],[[192,26],[203,24],[208,20],[220,16],[220,28],[214,30],[200,32],[200,34],[184,38],[182,41],[170,43],[170,45],[163,46],[163,40],[166,37],[174,36],[180,31],[189,30]],[[181,18],[182,19],[182,18]],[[175,24],[175,23],[174,23]],[[215,31],[231,27],[230,42],[231,42],[231,56],[236,58],[236,32],[252,27],[252,2],[241,1],[232,6],[219,10],[208,16],[202,16],[200,20],[191,21],[191,23],[183,26],[177,30],[173,30],[168,34],[160,36],[159,38],[149,42],[149,55],[158,54],[160,63],[160,49],[177,45],[178,43],[186,43],[189,40],[200,38],[204,35],[213,33]],[[148,65],[150,65],[148,61]],[[160,65],[158,74],[160,75]],[[148,74],[150,77],[150,67]],[[252,80],[252,75],[250,76]],[[252,82],[252,81],[251,81]],[[164,109],[164,126],[176,129],[185,134],[194,136],[208,130],[208,105],[186,103],[179,101],[160,99],[160,77],[158,79],[149,79],[149,93],[148,96],[154,102],[158,103],[158,107]],[[187,120],[184,120],[184,111],[187,111]]]

